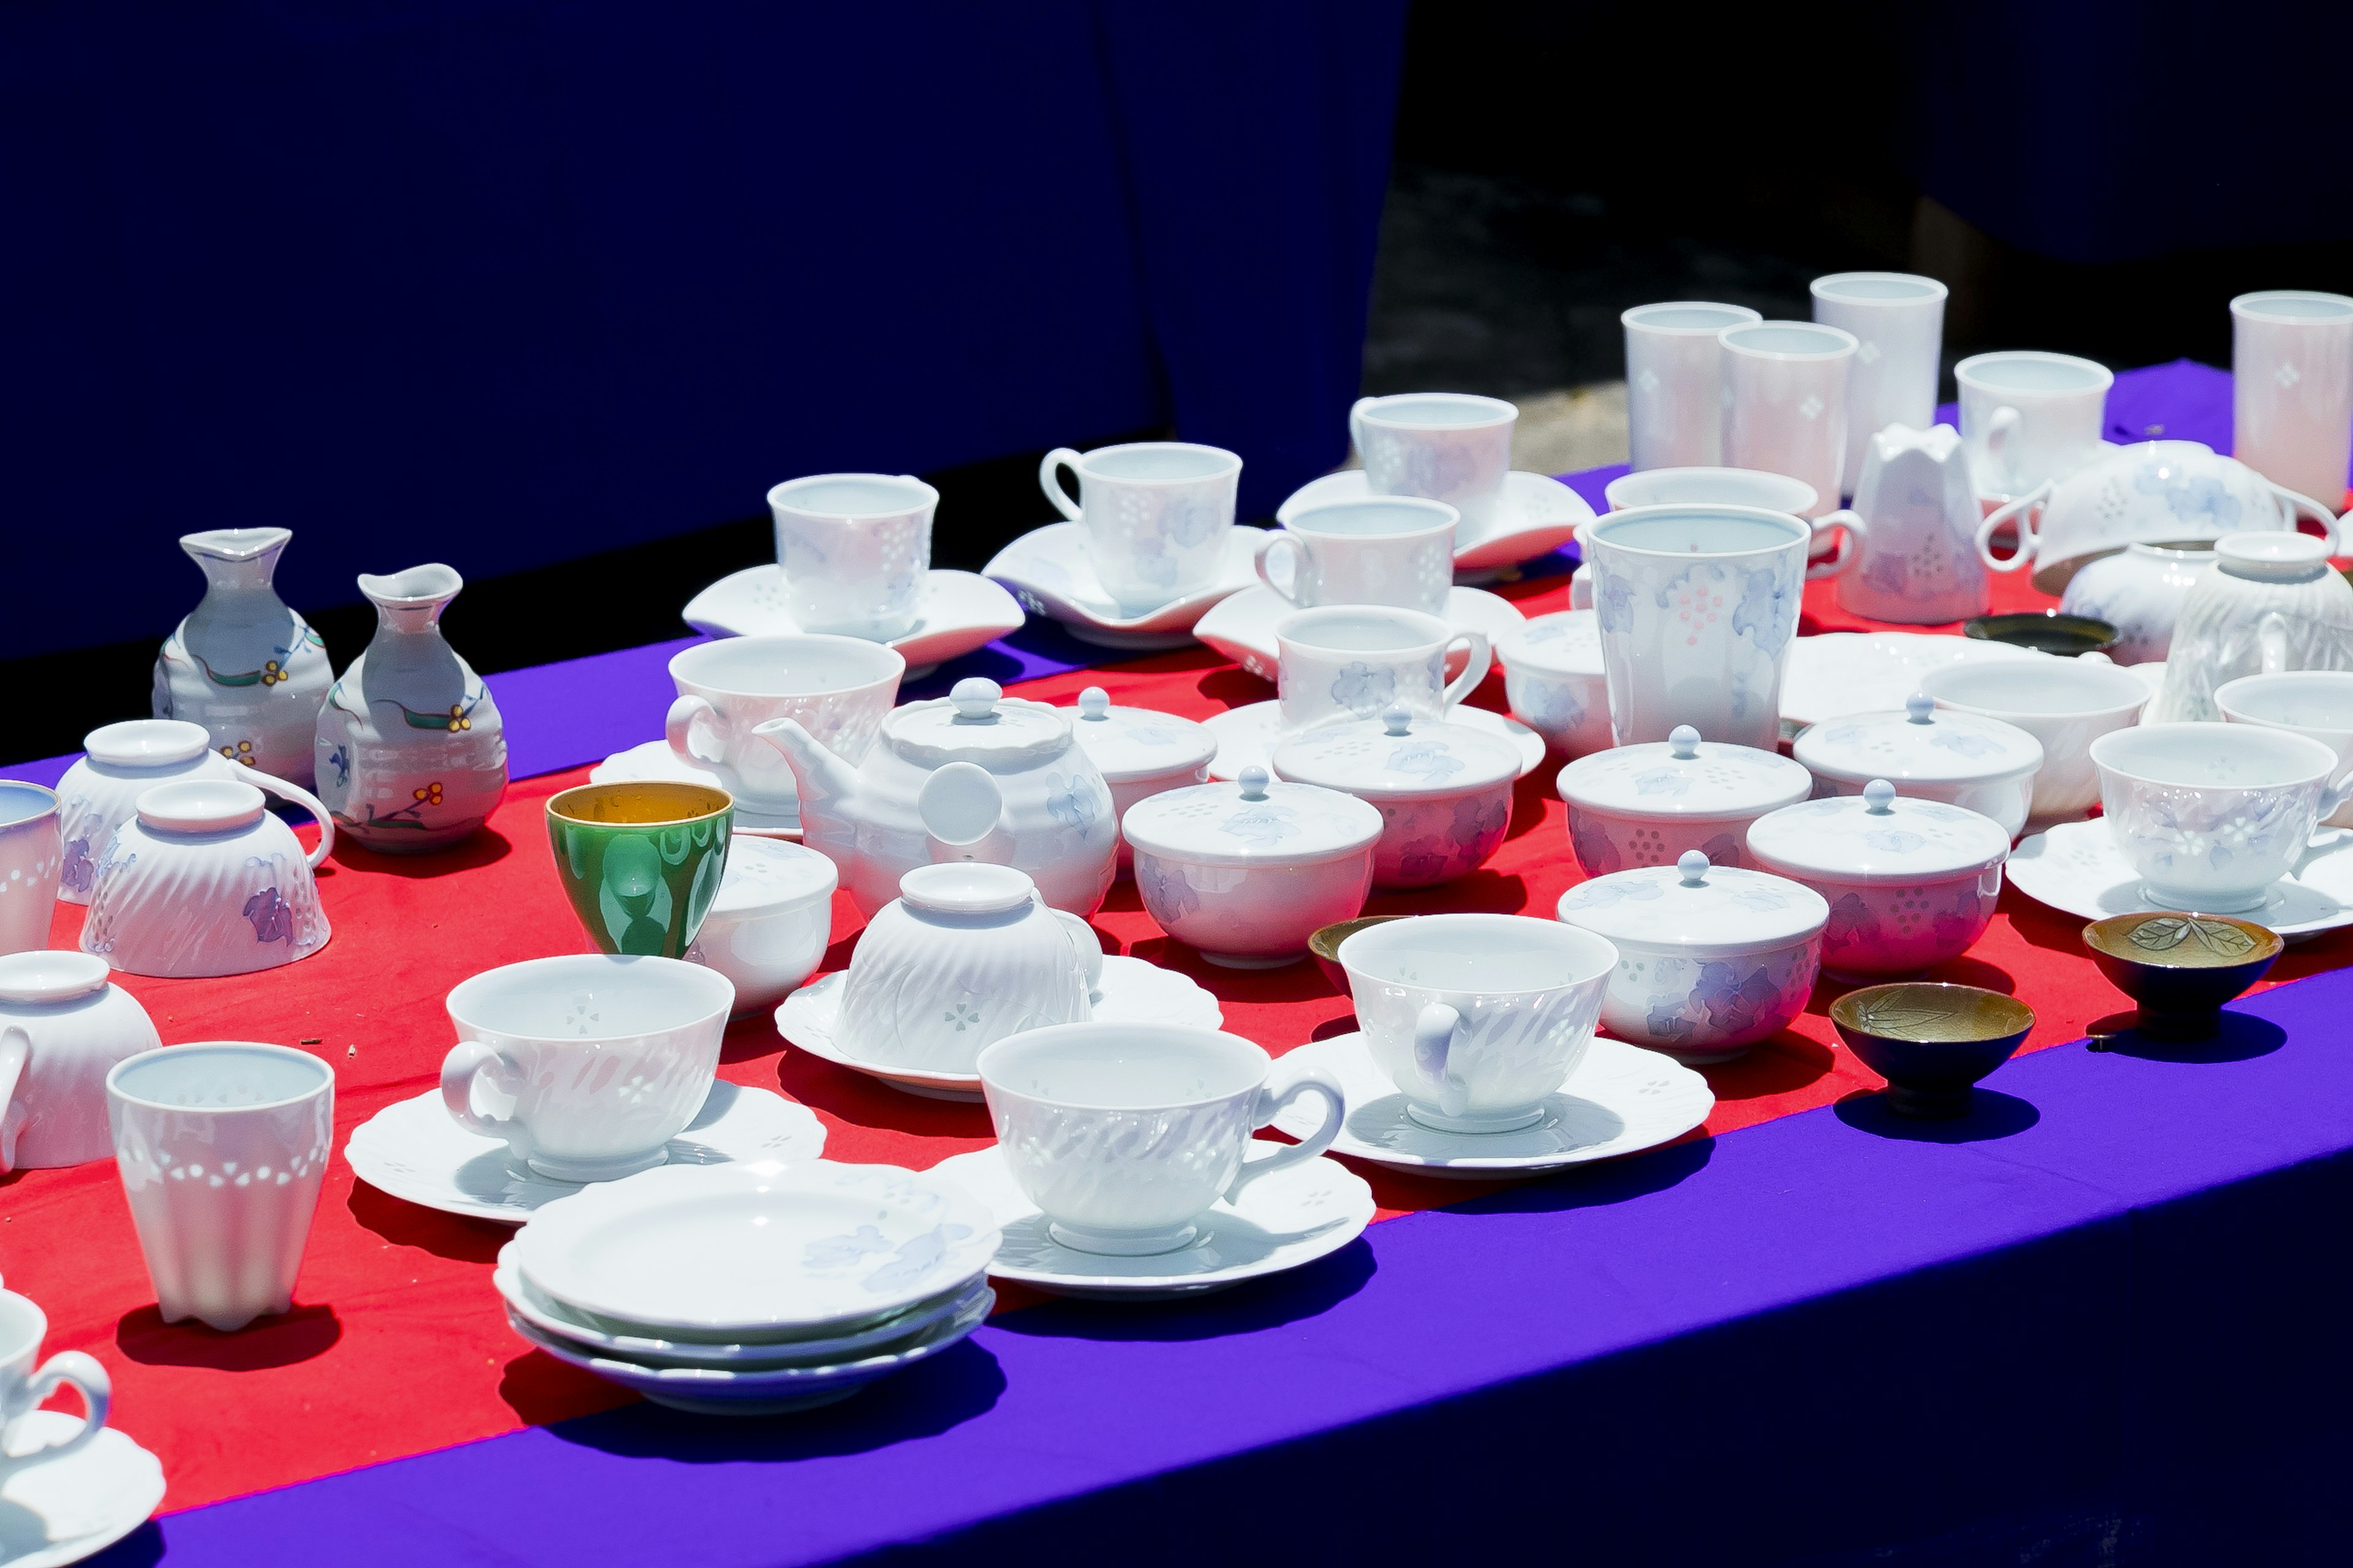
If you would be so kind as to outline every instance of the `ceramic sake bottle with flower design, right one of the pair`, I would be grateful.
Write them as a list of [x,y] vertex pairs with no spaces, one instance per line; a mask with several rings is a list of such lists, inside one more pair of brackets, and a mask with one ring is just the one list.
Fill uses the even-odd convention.
[[506,795],[489,686],[440,635],[466,581],[449,567],[362,576],[376,637],[318,712],[318,797],[336,832],[386,853],[456,844]]

